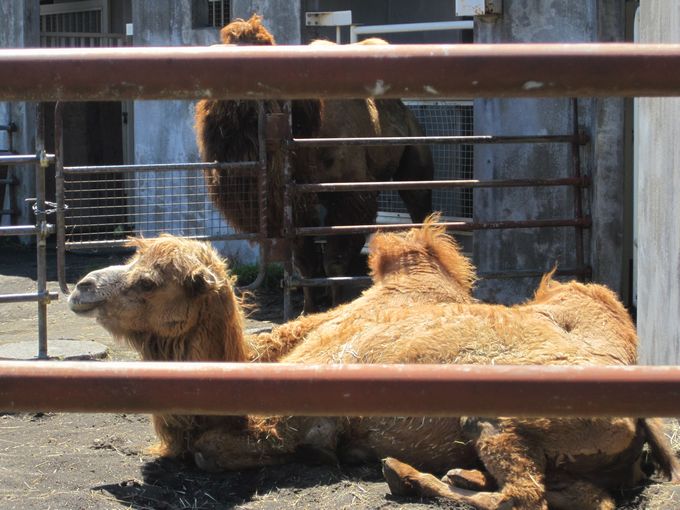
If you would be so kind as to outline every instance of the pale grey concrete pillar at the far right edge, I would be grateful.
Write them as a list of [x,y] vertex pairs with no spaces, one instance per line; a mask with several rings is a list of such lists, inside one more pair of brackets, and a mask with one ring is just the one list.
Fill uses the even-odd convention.
[[[680,3],[640,2],[640,42],[680,43]],[[680,98],[641,98],[638,117],[640,360],[680,363]]]

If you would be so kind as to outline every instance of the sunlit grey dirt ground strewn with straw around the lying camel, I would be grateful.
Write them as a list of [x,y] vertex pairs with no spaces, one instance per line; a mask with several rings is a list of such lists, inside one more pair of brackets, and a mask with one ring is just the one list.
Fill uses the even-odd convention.
[[[48,279],[50,290],[56,291],[52,252],[50,257]],[[68,281],[120,259],[120,254],[69,254]],[[0,244],[0,292],[34,291],[35,267],[33,250]],[[259,310],[251,315],[249,327],[280,321],[279,293],[258,293],[255,300]],[[48,338],[105,344],[109,355],[97,363],[137,359],[93,321],[72,314],[63,296],[48,307]],[[0,344],[17,341],[35,341],[37,348],[34,303],[0,304]],[[669,423],[669,434],[680,449],[675,422]],[[466,508],[395,498],[377,465],[290,464],[207,474],[148,455],[154,442],[146,415],[0,413],[0,509]],[[680,508],[680,490],[670,484],[650,484],[618,498],[620,509]]]

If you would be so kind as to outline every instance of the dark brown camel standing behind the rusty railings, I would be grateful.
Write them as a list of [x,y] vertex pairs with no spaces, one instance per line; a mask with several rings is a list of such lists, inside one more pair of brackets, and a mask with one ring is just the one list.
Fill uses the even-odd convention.
[[[260,16],[235,20],[220,32],[223,44],[274,45],[274,37]],[[316,44],[332,44],[317,42]],[[371,39],[367,44],[386,44]],[[225,77],[228,79],[228,77]],[[265,101],[267,113],[283,111],[283,102]],[[201,159],[248,161],[258,157],[257,103],[255,101],[202,100],[196,105],[196,140]],[[292,101],[296,138],[422,136],[411,111],[399,100]],[[291,155],[292,178],[297,183],[384,180],[432,180],[432,154],[426,146],[298,148]],[[283,235],[283,152],[280,145],[267,148],[267,222],[269,237]],[[256,178],[231,170],[205,172],[209,193],[221,213],[239,231],[258,230],[259,190]],[[415,222],[432,211],[431,190],[401,191]],[[377,214],[376,192],[342,192],[295,197],[295,224],[371,224]],[[293,241],[294,263],[303,277],[347,276],[361,272],[362,234],[330,236],[323,253],[311,237]],[[364,268],[365,270],[365,268]],[[320,289],[306,287],[305,312],[319,309]],[[333,302],[346,301],[351,291],[333,287]]]

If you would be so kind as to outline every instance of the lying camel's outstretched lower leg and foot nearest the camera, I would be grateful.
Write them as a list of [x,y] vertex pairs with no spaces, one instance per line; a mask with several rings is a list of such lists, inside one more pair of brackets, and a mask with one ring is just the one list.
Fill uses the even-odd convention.
[[417,469],[388,457],[383,459],[383,475],[395,496],[446,498],[459,503],[466,503],[477,510],[511,510],[512,499],[498,492],[475,492],[452,487],[435,476],[421,473]]

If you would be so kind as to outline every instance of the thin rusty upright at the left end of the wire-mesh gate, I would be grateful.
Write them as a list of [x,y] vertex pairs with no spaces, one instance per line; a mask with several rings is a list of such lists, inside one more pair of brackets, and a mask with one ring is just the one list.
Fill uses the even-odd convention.
[[66,222],[64,200],[64,103],[58,102],[54,107],[54,178],[57,201],[57,277],[59,288],[64,294],[69,293],[66,283]]

